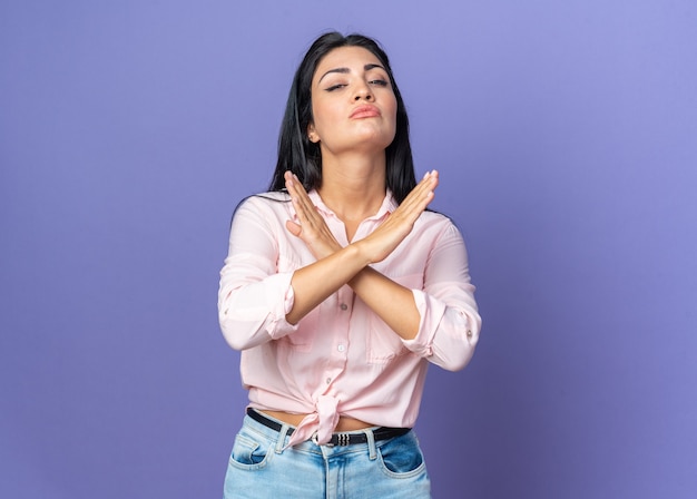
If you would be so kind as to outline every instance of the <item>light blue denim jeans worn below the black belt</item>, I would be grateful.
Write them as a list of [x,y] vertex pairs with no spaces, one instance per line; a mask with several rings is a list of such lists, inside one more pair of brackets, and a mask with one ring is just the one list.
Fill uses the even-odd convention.
[[431,481],[416,436],[283,450],[279,432],[245,415],[225,476],[225,499],[428,499]]

